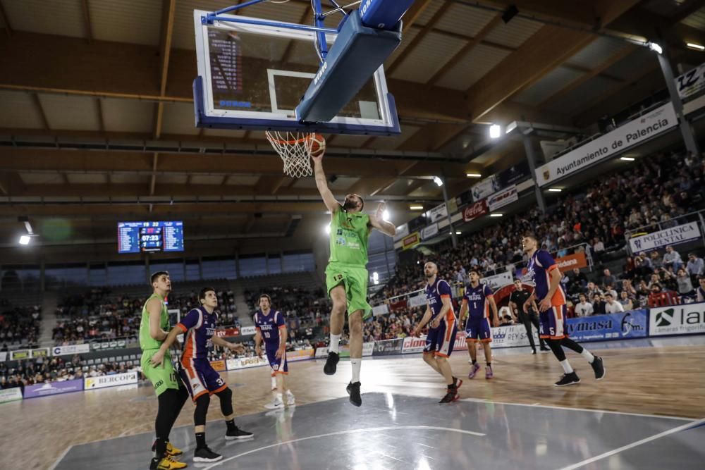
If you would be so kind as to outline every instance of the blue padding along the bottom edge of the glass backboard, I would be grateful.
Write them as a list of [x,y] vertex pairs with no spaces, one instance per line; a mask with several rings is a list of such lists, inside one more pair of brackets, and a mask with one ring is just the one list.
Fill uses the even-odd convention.
[[204,101],[203,78],[193,80],[193,106],[197,128],[232,130],[281,130],[291,132],[320,132],[331,134],[387,136],[401,133],[396,102],[391,93],[386,96],[391,113],[391,125],[356,125],[345,123],[300,123],[297,120],[233,118],[208,116]]

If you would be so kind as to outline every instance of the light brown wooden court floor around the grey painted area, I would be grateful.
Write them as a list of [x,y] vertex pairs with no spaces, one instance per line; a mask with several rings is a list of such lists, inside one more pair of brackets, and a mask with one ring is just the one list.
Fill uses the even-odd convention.
[[[541,404],[556,407],[602,409],[616,412],[705,417],[705,345],[627,347],[596,350],[605,359],[606,378],[597,382],[584,359],[570,353],[582,383],[553,387],[561,369],[550,353],[532,356],[523,348],[502,351],[493,361],[495,377],[467,380],[467,352],[458,351],[450,362],[455,375],[465,379],[460,396],[494,402]],[[482,354],[479,359],[482,363]],[[290,388],[298,404],[345,397],[350,364],[341,361],[336,376],[325,376],[322,360],[290,364]],[[265,411],[271,398],[266,368],[224,373],[233,388],[238,415]],[[429,406],[443,395],[440,376],[424,364],[420,354],[369,359],[362,364],[362,391],[392,392],[429,397]],[[352,406],[352,405],[351,405]],[[440,406],[440,405],[439,405]],[[453,406],[450,404],[448,406]],[[193,405],[187,402],[175,426],[192,423]],[[154,429],[157,400],[152,387],[128,390],[107,388],[42,397],[0,405],[0,469],[47,469],[70,445]],[[209,421],[222,419],[217,400]],[[106,443],[107,445],[107,443]],[[151,443],[145,443],[145,446]],[[20,463],[21,462],[21,463]]]

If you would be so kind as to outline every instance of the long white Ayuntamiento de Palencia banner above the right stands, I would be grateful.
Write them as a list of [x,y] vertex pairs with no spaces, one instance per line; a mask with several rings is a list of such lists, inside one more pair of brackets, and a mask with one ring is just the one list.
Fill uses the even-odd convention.
[[678,118],[675,116],[673,103],[669,101],[654,111],[639,116],[629,123],[539,166],[536,169],[537,184],[545,186],[571,173],[582,171],[593,163],[620,154],[639,142],[651,139],[651,137],[655,137],[676,125],[678,125]]

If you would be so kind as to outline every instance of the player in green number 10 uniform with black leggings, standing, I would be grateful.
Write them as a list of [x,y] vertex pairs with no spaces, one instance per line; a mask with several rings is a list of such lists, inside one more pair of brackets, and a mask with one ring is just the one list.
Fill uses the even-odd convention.
[[152,274],[150,280],[154,291],[145,302],[145,307],[142,307],[140,322],[140,348],[142,349],[140,365],[142,373],[154,385],[154,392],[157,393],[157,400],[159,400],[157,421],[154,423],[157,440],[152,448],[155,454],[149,468],[152,470],[183,469],[186,464],[173,459],[183,452],[169,443],[169,433],[186,402],[188,392],[171,365],[171,357],[167,355],[164,360],[160,358],[159,366],[154,366],[150,362],[150,359],[159,353],[159,348],[164,345],[167,337],[169,316],[164,299],[171,292],[171,280],[166,271]]

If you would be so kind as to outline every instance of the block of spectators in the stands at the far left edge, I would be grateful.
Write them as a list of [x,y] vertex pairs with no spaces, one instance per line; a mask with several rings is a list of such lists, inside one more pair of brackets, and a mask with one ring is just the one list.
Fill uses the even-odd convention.
[[17,307],[0,299],[0,345],[3,351],[16,347],[36,347],[42,308]]

